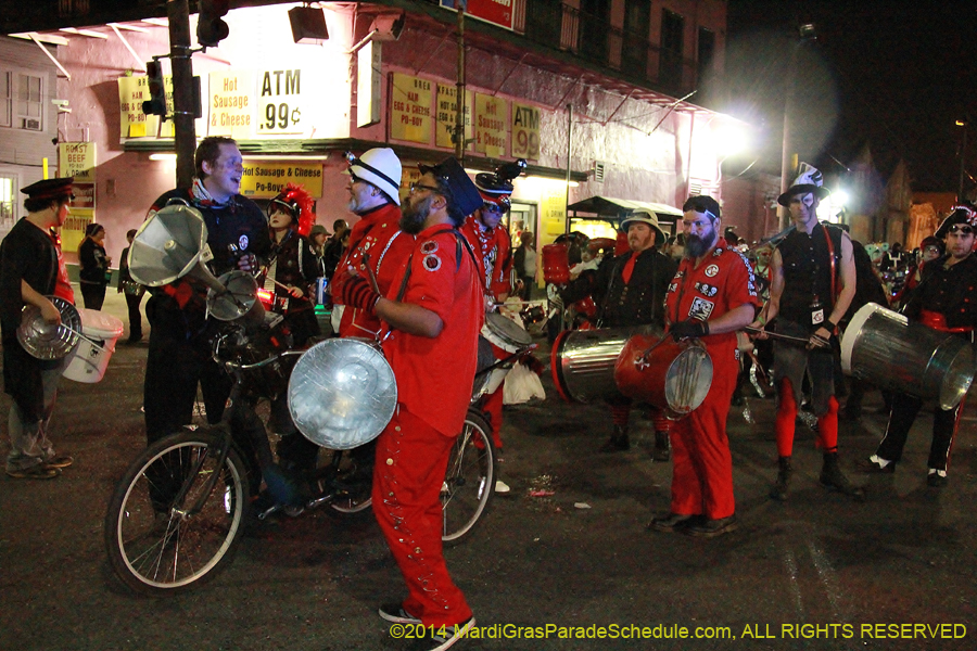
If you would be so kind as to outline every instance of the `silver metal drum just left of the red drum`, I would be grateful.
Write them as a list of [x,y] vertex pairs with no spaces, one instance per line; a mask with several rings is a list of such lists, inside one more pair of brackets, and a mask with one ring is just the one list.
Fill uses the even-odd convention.
[[614,365],[627,340],[635,334],[661,334],[655,326],[627,326],[596,330],[568,330],[553,343],[553,383],[568,403],[589,403],[620,395]]

